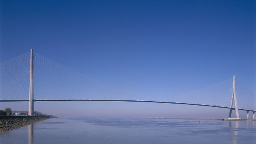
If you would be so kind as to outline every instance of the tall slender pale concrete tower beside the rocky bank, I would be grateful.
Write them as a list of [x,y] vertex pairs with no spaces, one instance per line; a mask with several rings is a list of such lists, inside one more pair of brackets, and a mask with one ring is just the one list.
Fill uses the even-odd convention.
[[28,115],[34,116],[33,49],[30,50],[30,84],[29,84]]

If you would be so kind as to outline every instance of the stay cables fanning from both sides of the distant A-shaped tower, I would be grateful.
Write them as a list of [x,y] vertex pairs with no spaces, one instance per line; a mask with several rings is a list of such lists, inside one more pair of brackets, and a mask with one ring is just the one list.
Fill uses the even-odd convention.
[[[230,107],[233,94],[233,78],[224,80],[212,86],[200,90],[188,92],[178,96],[170,96],[167,102],[178,102],[188,104],[204,104],[211,106]],[[236,97],[238,108],[255,110],[256,97],[241,82],[236,79]],[[234,103],[234,101],[233,101]],[[233,108],[235,105],[233,104]]]

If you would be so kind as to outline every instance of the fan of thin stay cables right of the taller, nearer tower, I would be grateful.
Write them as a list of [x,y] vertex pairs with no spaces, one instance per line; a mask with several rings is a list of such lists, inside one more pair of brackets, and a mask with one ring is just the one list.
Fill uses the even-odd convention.
[[35,99],[132,100],[137,96],[34,54]]

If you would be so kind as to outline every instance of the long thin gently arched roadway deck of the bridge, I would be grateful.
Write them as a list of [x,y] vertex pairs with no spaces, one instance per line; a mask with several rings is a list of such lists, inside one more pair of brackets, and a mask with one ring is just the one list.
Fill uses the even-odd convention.
[[[40,102],[40,101],[109,101],[109,102],[152,102],[152,103],[166,103],[166,104],[187,104],[187,105],[195,105],[195,106],[210,106],[210,107],[216,107],[216,108],[228,108],[235,110],[235,108],[225,107],[225,106],[212,106],[212,105],[206,105],[206,104],[189,104],[189,103],[181,103],[181,102],[162,102],[162,101],[146,101],[146,100],[68,100],[68,99],[60,99],[60,100],[35,100],[34,102]],[[28,100],[0,100],[0,102],[28,102]],[[238,110],[244,110],[244,111],[250,111],[250,112],[256,112],[256,110],[246,110],[238,108]]]

